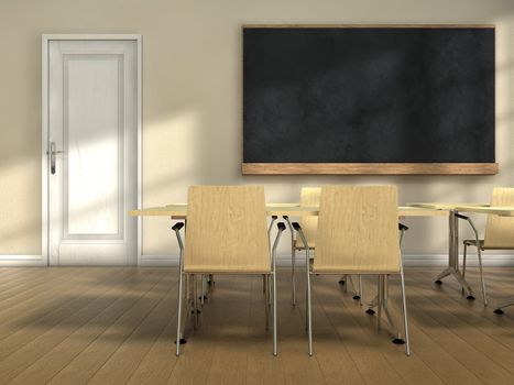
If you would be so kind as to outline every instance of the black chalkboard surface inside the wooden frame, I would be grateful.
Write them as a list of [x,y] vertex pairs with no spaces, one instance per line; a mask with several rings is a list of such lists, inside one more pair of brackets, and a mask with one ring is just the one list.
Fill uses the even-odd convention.
[[244,163],[493,163],[494,28],[244,28]]

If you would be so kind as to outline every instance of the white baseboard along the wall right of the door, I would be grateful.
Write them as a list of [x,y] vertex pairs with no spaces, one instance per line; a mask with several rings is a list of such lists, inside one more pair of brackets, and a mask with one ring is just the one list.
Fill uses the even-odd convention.
[[[404,254],[403,255],[404,266],[408,267],[438,267],[448,265],[448,255],[426,255],[426,254]],[[483,255],[484,266],[514,266],[514,255],[499,255],[499,254],[485,254]],[[296,256],[296,263],[298,266],[305,265],[304,255]],[[276,264],[278,266],[289,266],[291,255],[283,254],[277,255]],[[177,266],[178,255],[141,255],[140,266]],[[468,256],[469,266],[478,266],[477,255],[470,254]]]

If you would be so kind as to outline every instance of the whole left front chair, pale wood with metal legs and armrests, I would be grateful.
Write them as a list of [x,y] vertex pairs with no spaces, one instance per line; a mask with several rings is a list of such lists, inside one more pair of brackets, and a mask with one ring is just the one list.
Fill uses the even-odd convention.
[[[276,249],[285,224],[277,223],[271,246],[271,227],[266,224],[262,186],[192,186],[188,191],[186,240],[176,223],[172,229],[179,246],[176,355],[185,343],[184,327],[193,308],[194,328],[198,328],[197,278],[212,274],[262,275],[265,277],[265,328],[273,309],[273,354],[277,354]],[[212,280],[212,278],[211,278]],[[190,287],[190,285],[193,287]],[[204,286],[204,284],[201,285]],[[212,288],[212,285],[210,285]],[[271,293],[270,293],[271,292]],[[203,293],[204,296],[204,293]],[[186,308],[186,314],[184,314]]]

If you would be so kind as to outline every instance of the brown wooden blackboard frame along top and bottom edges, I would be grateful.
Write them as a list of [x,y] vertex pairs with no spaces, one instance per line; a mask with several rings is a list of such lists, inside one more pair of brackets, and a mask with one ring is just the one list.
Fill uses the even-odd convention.
[[[243,24],[242,29],[495,29],[495,24]],[[242,163],[243,175],[494,175],[497,163]]]

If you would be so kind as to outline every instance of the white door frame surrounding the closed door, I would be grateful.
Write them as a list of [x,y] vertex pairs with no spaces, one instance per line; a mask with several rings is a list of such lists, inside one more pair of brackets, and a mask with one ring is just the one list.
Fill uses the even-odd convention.
[[[138,46],[138,207],[141,207],[142,199],[142,41],[143,37],[141,34],[43,34],[42,35],[42,141],[41,141],[41,246],[42,246],[42,261],[46,262],[46,265],[50,266],[50,240],[48,240],[48,155],[46,151],[50,146],[48,142],[48,47],[50,42],[54,40],[124,40],[124,41],[135,41]],[[138,217],[138,265],[141,261],[141,219]]]

